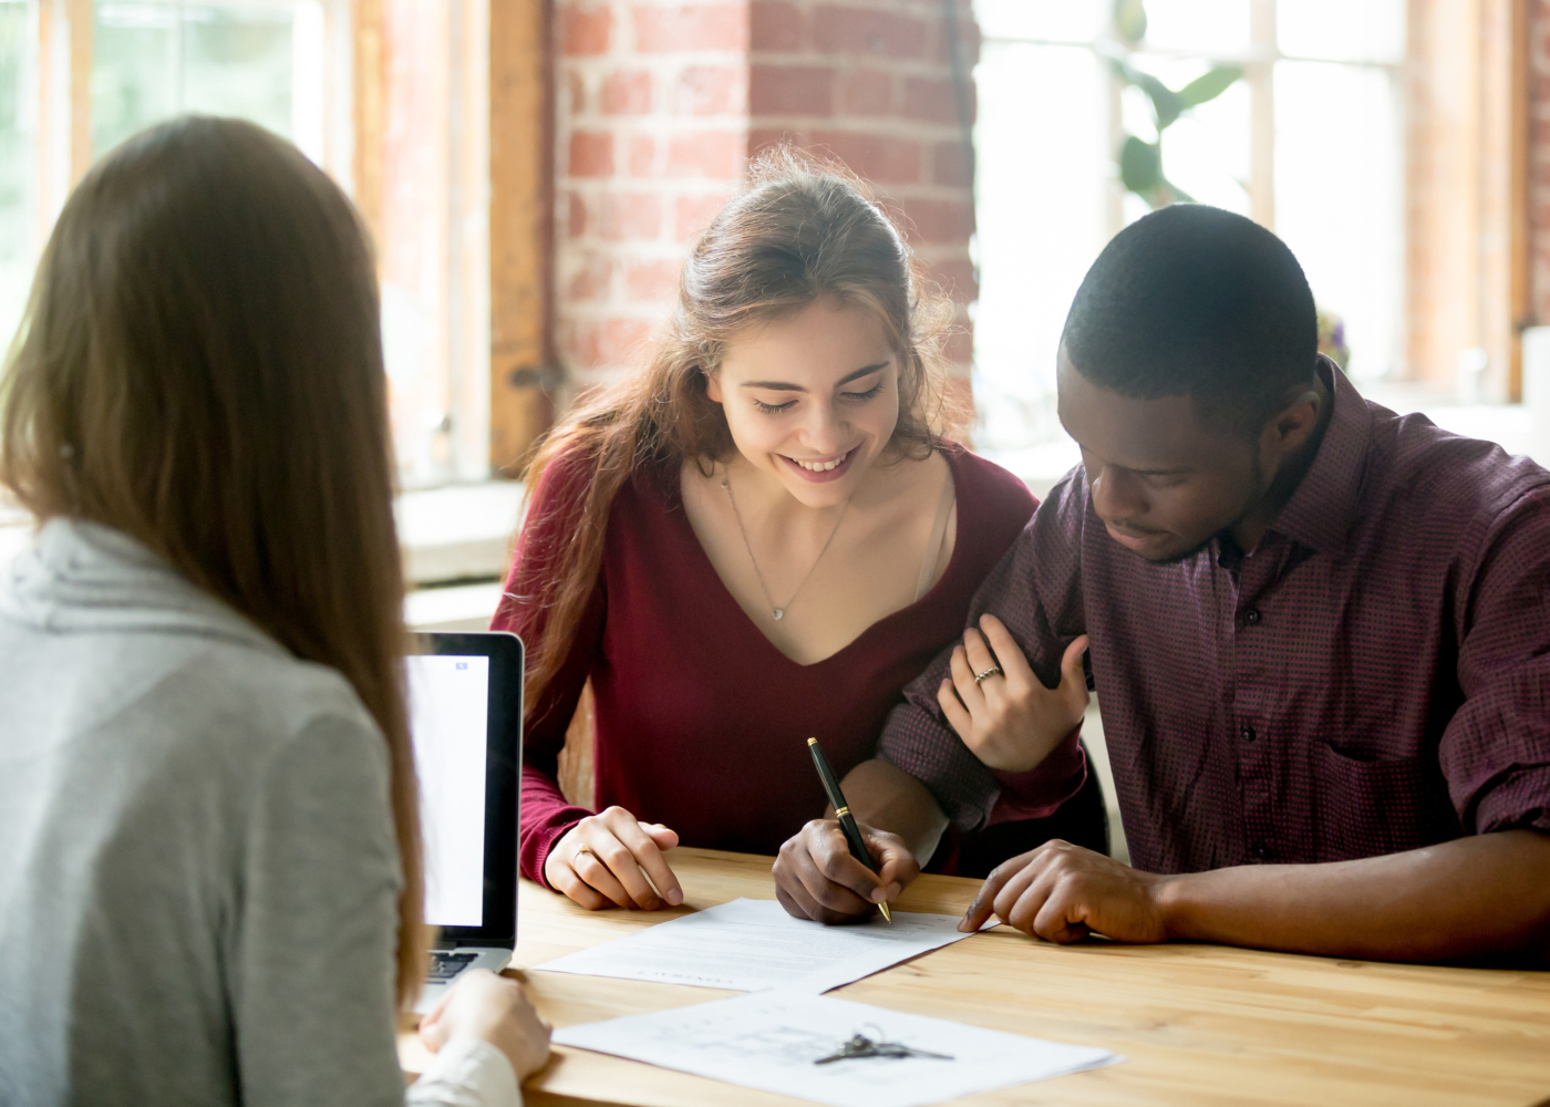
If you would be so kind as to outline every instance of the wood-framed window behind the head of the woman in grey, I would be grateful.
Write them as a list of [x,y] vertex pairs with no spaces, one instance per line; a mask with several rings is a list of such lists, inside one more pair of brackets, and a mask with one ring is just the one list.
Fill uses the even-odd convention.
[[[536,431],[513,388],[494,389],[505,406],[491,414],[490,316],[496,296],[507,332],[542,332],[529,247],[544,194],[512,188],[496,211],[510,248],[493,274],[490,129],[499,112],[502,153],[547,164],[546,12],[541,0],[0,0],[0,341],[93,160],[186,112],[246,118],[332,174],[374,233],[401,482],[485,479],[491,423],[502,465]],[[505,358],[542,361],[507,332]]]

